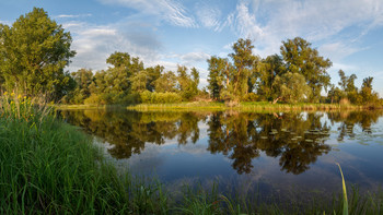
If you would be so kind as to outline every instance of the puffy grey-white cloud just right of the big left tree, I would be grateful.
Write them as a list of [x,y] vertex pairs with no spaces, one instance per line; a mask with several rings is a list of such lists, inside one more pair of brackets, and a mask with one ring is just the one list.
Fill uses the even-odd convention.
[[140,57],[143,62],[159,59],[158,51],[162,45],[150,26],[142,27],[137,23],[90,25],[84,22],[69,22],[63,26],[71,32],[72,49],[77,51],[69,67],[70,71],[81,68],[106,69],[106,59],[114,51]]

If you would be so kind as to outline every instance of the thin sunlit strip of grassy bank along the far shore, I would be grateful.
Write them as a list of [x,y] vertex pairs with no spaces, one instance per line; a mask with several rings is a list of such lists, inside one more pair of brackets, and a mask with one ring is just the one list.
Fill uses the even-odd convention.
[[239,110],[239,111],[262,111],[262,110],[283,110],[283,111],[303,111],[303,110],[361,110],[369,107],[356,105],[338,104],[270,104],[259,103],[240,103],[232,105],[217,101],[195,101],[178,104],[140,104],[127,107],[130,110]]

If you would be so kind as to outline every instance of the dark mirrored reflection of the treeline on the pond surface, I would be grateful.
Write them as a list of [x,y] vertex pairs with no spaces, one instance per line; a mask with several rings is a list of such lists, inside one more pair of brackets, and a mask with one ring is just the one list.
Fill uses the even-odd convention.
[[332,150],[326,141],[334,124],[338,126],[338,141],[344,141],[355,138],[356,126],[372,133],[371,126],[381,116],[376,111],[198,114],[124,110],[71,110],[61,115],[70,123],[113,145],[108,153],[117,159],[140,154],[148,143],[164,145],[174,140],[178,145],[195,144],[200,139],[200,128],[207,127],[207,151],[224,155],[240,175],[252,172],[252,162],[262,155],[278,159],[282,171],[302,174]]

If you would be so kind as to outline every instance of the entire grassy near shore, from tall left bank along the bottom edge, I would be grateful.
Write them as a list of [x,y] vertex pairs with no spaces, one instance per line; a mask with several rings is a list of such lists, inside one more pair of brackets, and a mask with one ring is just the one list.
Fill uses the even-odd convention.
[[[302,207],[229,199],[187,188],[181,200],[152,180],[120,175],[90,136],[27,98],[0,99],[0,214],[343,214],[333,204]],[[339,184],[341,188],[341,184]],[[349,193],[349,214],[381,214],[383,193]]]

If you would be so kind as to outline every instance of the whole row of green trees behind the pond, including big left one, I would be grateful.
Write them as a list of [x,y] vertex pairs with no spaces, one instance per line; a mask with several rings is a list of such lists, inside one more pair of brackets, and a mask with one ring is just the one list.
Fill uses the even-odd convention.
[[[196,68],[146,68],[138,57],[114,52],[106,70],[65,72],[74,57],[71,36],[43,9],[21,15],[12,26],[0,24],[0,89],[30,96],[49,95],[63,104],[163,104],[190,100],[270,103],[352,103],[382,105],[372,88],[373,77],[339,71],[338,86],[330,83],[332,61],[295,37],[282,41],[280,55],[260,58],[251,39],[240,38],[228,58],[208,59],[208,85],[198,88]],[[322,96],[326,92],[326,96]]]

